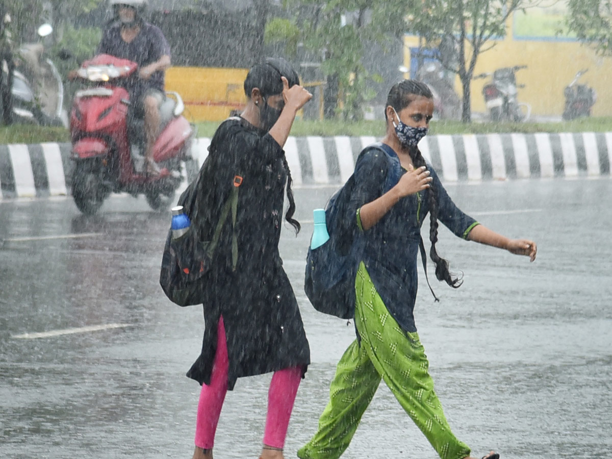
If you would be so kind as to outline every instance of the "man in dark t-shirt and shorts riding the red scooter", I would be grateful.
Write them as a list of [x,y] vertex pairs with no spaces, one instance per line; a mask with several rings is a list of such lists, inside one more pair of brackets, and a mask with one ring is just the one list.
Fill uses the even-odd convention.
[[[138,77],[125,83],[133,113],[144,117],[146,173],[159,174],[153,146],[160,127],[159,108],[165,99],[164,72],[170,67],[170,45],[162,31],[144,21],[146,0],[110,0],[114,21],[102,35],[97,54],[110,54],[138,64]],[[72,72],[71,72],[72,73]]]

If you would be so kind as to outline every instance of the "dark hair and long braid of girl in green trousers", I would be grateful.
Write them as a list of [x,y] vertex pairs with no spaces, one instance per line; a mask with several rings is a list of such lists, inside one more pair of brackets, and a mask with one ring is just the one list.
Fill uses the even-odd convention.
[[[390,89],[386,106],[392,106],[399,113],[400,110],[410,105],[418,96],[433,99],[433,94],[431,94],[427,84],[415,80],[403,80],[400,83],[394,84]],[[385,111],[385,118],[386,116],[387,112]],[[425,159],[418,147],[411,147],[409,154],[415,169],[421,166],[427,168],[427,163],[425,163]],[[450,275],[449,262],[441,258],[436,251],[436,242],[438,242],[438,190],[431,183],[430,187],[427,188],[427,203],[429,204],[429,240],[431,241],[429,256],[436,266],[436,278],[444,280],[444,282],[453,288],[458,288],[463,282],[457,277],[453,278]]]

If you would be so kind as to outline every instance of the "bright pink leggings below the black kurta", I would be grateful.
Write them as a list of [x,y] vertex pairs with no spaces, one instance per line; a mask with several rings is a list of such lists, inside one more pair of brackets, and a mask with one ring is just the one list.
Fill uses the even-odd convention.
[[[202,385],[198,416],[195,428],[195,446],[211,449],[215,440],[215,431],[221,414],[223,400],[228,390],[228,349],[225,340],[223,317],[217,326],[217,353],[212,365],[211,384]],[[297,387],[302,379],[300,367],[285,368],[274,372],[268,390],[268,411],[264,444],[282,448],[289,425],[289,417],[296,399]]]

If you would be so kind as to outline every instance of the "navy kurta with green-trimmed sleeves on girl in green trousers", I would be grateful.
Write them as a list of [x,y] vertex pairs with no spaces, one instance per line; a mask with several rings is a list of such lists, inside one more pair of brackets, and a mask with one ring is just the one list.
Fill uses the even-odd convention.
[[[389,148],[390,151],[392,151]],[[384,189],[390,162],[387,155],[372,148],[356,164],[356,187],[351,193],[347,221],[355,221],[360,228],[359,209],[386,193]],[[397,167],[400,167],[397,165]],[[442,187],[436,171],[428,165],[438,194],[438,220],[455,235],[467,237],[478,223],[458,209]],[[401,177],[405,170],[396,171]],[[394,184],[395,185],[395,184]],[[363,261],[389,312],[407,332],[416,332],[414,301],[417,294],[417,253],[420,228],[429,212],[428,190],[402,198],[376,225],[365,231]]]

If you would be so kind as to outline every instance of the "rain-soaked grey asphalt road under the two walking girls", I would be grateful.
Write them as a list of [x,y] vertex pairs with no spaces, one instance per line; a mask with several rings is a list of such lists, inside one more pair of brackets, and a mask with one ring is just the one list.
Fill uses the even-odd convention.
[[[478,457],[490,448],[502,458],[607,457],[612,180],[447,189],[480,222],[539,245],[530,264],[441,230],[439,252],[465,283],[453,290],[436,282],[436,304],[421,283],[416,321],[455,435]],[[315,431],[335,362],[354,338],[352,326],[316,313],[302,290],[311,211],[331,192],[296,190],[303,230],[282,237],[313,362],[287,458]],[[199,386],[184,373],[204,324],[200,307],[171,304],[157,283],[169,219],[129,196],[89,218],[66,198],[0,202],[2,457],[191,457]],[[84,328],[94,326],[103,329]],[[228,394],[216,458],[258,457],[269,379],[239,379]],[[381,386],[343,457],[437,456]]]

